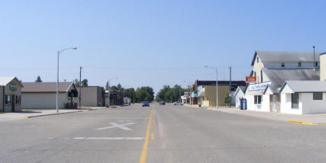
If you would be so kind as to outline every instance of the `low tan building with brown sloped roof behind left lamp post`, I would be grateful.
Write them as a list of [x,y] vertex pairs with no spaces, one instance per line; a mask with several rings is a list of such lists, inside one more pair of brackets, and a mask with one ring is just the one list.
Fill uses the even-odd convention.
[[[55,109],[56,82],[22,83],[22,108]],[[59,82],[59,108],[77,108],[78,92],[72,82]]]

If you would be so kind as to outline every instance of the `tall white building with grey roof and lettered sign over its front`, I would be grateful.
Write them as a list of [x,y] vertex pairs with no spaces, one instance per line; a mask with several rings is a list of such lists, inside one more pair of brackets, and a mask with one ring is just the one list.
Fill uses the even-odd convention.
[[286,80],[319,80],[319,57],[309,52],[256,51],[251,76],[256,83],[247,85],[247,110],[282,112],[284,106],[279,90]]

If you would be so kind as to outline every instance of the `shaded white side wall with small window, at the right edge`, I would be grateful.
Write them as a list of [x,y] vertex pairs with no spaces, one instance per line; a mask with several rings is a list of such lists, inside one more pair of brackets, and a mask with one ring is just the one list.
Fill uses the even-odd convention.
[[312,93],[300,94],[302,96],[302,113],[315,114],[326,112],[326,94],[323,93],[323,100],[313,100]]

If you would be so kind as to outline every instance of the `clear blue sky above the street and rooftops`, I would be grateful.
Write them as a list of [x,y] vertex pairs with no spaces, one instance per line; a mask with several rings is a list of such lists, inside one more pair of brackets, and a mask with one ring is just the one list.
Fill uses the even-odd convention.
[[326,51],[326,1],[1,1],[0,76],[89,85],[244,80],[254,51]]

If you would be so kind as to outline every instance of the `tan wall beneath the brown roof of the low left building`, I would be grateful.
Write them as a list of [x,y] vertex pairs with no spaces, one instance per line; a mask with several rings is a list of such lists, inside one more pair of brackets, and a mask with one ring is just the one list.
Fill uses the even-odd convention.
[[[65,108],[68,93],[59,93],[59,108]],[[22,93],[22,108],[55,109],[56,93]]]

